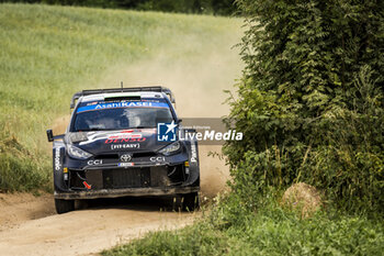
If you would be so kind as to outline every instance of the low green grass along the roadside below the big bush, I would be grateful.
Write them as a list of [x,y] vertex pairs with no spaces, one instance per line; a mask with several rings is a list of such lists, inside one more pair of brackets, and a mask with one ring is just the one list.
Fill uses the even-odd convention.
[[222,218],[172,232],[155,232],[142,240],[102,252],[120,255],[383,255],[384,225],[360,216],[319,213],[301,220],[279,207]]

